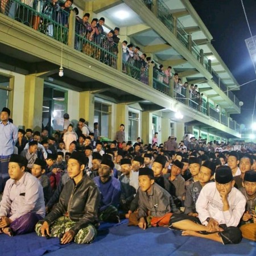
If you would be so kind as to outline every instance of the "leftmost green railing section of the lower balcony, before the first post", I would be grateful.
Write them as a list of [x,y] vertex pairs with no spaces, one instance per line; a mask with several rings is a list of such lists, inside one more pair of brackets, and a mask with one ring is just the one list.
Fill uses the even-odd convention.
[[2,0],[1,12],[61,43],[68,42],[69,13],[57,4],[53,6],[52,2],[34,1],[33,6],[28,6],[18,0]]

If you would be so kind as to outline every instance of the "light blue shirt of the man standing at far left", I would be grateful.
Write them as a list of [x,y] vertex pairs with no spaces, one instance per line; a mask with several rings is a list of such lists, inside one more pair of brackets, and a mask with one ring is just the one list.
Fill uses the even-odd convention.
[[18,129],[9,121],[4,125],[0,122],[0,155],[11,155],[18,140]]

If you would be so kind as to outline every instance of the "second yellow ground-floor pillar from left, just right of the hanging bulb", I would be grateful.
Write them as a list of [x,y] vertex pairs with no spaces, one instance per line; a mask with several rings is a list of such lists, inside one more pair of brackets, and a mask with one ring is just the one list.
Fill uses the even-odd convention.
[[94,123],[94,94],[80,92],[79,118],[84,118],[86,122],[89,122],[89,128],[92,129]]

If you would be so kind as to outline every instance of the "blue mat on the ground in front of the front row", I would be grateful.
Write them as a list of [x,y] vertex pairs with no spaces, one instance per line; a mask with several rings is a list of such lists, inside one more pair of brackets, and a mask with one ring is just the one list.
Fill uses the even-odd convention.
[[102,224],[96,240],[89,245],[59,245],[59,239],[46,240],[35,233],[23,236],[0,236],[0,255],[256,255],[256,243],[243,239],[238,245],[197,237],[183,237],[181,232],[168,228],[139,229],[119,224]]

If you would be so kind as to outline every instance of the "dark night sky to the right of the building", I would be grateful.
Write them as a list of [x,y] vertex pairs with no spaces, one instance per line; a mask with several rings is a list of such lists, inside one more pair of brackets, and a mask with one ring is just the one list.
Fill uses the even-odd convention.
[[[190,0],[213,36],[212,44],[228,66],[238,84],[256,79],[245,39],[250,38],[241,0]],[[256,35],[256,1],[243,0],[251,33]],[[232,115],[238,123],[251,126],[256,81],[241,86],[234,94],[243,101],[241,114]],[[256,111],[254,113],[256,122]]]

